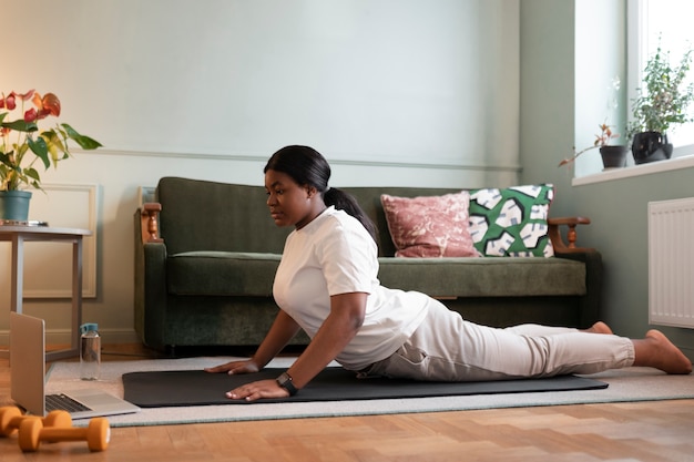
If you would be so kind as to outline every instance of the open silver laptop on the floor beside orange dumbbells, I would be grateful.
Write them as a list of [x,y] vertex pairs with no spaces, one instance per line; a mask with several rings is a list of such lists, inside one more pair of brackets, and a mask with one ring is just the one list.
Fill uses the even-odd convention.
[[140,408],[105,391],[85,388],[45,394],[45,325],[43,319],[10,311],[10,393],[28,414],[65,410],[73,419],[125,414]]

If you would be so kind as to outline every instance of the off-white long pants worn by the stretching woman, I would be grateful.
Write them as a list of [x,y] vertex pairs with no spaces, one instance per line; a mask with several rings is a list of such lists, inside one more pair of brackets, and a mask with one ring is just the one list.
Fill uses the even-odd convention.
[[437,300],[409,340],[364,376],[479,381],[594,373],[632,366],[627,338],[563,327],[497,329],[466,321]]

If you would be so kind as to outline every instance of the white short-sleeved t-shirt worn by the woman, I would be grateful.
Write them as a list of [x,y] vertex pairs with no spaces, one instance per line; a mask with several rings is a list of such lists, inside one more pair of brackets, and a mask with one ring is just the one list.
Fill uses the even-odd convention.
[[310,338],[330,314],[330,296],[369,294],[364,325],[336,360],[360,370],[388,358],[427,315],[429,297],[388,289],[378,280],[378,249],[361,223],[328,207],[289,234],[273,295]]

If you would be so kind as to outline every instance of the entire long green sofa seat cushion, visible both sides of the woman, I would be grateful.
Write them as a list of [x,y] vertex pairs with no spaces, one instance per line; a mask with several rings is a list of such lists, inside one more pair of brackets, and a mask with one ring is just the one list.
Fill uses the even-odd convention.
[[[280,258],[278,254],[231,251],[172,255],[166,259],[167,291],[182,296],[272,296]],[[565,258],[382,257],[378,261],[378,278],[385,287],[433,297],[586,292],[585,264]]]

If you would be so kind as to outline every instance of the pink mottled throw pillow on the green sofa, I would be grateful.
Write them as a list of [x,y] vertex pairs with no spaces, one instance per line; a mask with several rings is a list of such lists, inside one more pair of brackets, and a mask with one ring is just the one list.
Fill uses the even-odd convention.
[[478,257],[468,230],[470,194],[380,196],[396,257]]

